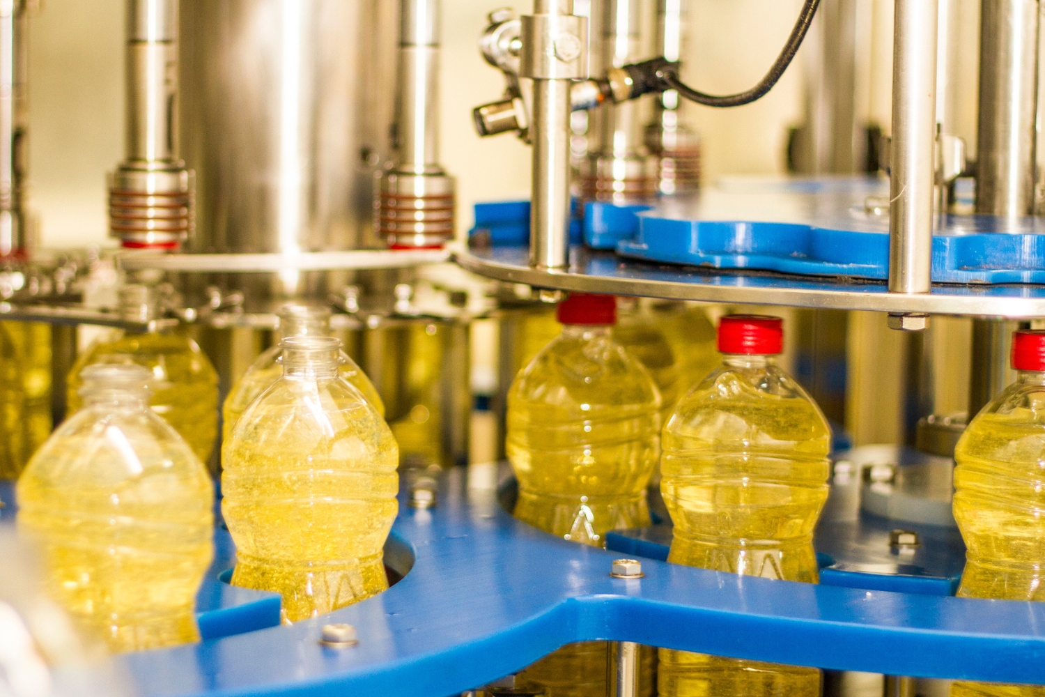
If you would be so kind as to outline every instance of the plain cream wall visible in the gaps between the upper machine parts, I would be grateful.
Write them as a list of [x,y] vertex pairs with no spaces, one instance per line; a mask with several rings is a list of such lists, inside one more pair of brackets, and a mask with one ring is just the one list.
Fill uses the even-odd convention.
[[[873,44],[869,116],[887,125],[892,2],[872,1],[874,21],[866,27]],[[471,125],[471,109],[503,90],[501,75],[482,61],[475,45],[486,13],[503,3],[443,2],[442,154],[458,177],[463,229],[470,226],[473,202],[528,190],[528,148],[507,135],[480,139]],[[528,10],[530,2],[518,5]],[[691,0],[688,79],[709,92],[750,87],[775,57],[798,6],[799,0]],[[123,149],[122,36],[122,0],[44,0],[31,20],[29,176],[44,246],[106,239],[104,173]],[[970,52],[967,45],[963,53]],[[802,120],[800,63],[799,55],[797,69],[753,104],[689,108],[689,118],[703,137],[705,181],[784,170],[787,127]],[[969,122],[967,115],[967,131]]]

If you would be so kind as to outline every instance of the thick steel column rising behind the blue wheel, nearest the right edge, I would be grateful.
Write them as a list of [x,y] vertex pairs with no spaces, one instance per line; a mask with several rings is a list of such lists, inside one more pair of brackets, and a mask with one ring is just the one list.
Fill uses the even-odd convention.
[[1038,0],[980,5],[976,212],[1028,215],[1034,206]]

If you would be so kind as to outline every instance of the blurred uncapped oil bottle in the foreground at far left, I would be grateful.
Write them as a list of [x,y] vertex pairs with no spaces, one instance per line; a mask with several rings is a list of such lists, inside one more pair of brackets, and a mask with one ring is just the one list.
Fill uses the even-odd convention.
[[114,651],[196,641],[195,594],[213,556],[210,475],[148,409],[146,369],[80,375],[86,405],[18,481],[19,529],[39,543],[54,598]]

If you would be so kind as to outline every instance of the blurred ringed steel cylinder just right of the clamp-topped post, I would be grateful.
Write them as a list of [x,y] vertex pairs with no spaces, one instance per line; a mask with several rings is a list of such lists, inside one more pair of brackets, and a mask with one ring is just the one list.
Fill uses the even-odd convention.
[[[641,0],[606,0],[602,72],[644,57]],[[581,163],[581,195],[589,201],[642,203],[656,195],[656,158],[644,142],[642,102],[606,103],[596,111],[599,147]]]

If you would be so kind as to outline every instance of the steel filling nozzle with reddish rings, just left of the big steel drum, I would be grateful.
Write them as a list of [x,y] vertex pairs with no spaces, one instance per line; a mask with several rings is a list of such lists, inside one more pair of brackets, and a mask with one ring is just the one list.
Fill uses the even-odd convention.
[[127,0],[126,158],[109,176],[110,234],[177,249],[193,228],[193,176],[178,157],[178,0]]

